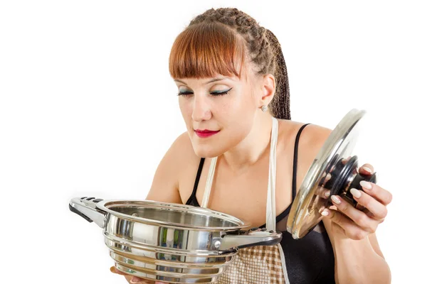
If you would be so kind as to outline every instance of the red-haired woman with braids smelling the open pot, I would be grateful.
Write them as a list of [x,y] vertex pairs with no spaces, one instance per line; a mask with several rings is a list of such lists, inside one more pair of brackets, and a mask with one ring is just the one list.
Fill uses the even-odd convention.
[[[147,200],[202,204],[283,231],[277,251],[255,248],[272,249],[280,264],[273,263],[280,268],[276,274],[256,271],[242,250],[237,262],[246,261],[246,268],[228,269],[218,283],[390,283],[375,231],[391,194],[379,185],[365,182],[363,191],[352,190],[363,212],[332,196],[334,207],[304,238],[294,240],[285,229],[297,189],[330,129],[290,120],[288,75],[273,33],[238,9],[209,9],[176,38],[169,71],[187,131],[164,155]],[[373,171],[366,164],[359,173]]]

